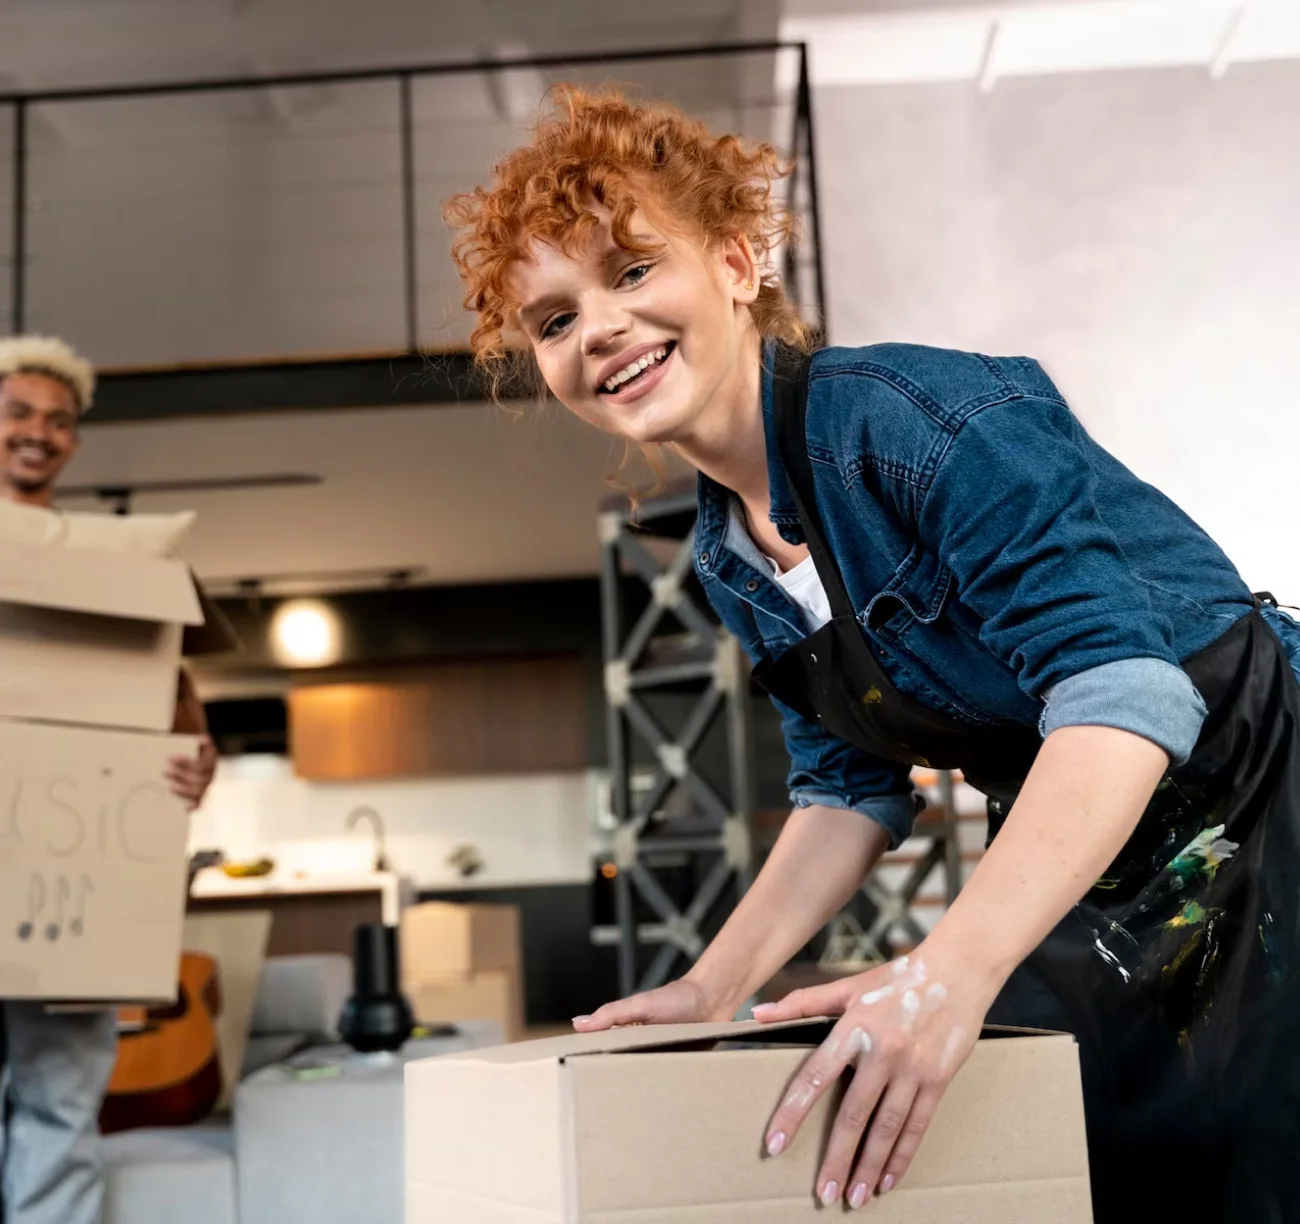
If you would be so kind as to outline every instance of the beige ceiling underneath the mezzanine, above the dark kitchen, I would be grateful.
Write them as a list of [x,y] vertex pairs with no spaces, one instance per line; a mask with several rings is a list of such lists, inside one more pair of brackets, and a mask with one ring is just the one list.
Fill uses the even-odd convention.
[[[555,404],[517,416],[485,404],[372,408],[87,427],[65,481],[322,477],[299,489],[136,495],[136,512],[199,512],[186,556],[222,589],[351,569],[498,582],[597,570],[595,518],[619,455]],[[95,508],[90,498],[64,504]]]

